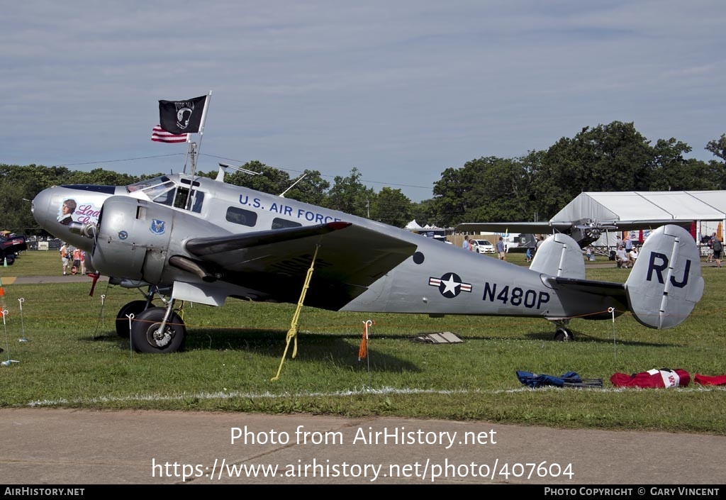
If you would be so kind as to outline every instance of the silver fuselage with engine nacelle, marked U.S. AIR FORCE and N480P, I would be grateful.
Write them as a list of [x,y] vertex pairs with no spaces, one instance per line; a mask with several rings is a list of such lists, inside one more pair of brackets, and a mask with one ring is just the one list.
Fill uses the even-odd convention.
[[[192,195],[189,197],[190,187]],[[102,212],[107,201],[121,206],[123,198],[135,198],[144,211],[148,210],[148,215],[134,219],[123,210],[113,211],[113,214],[110,209]],[[65,214],[62,208],[68,200],[76,206],[70,214],[73,222],[70,225],[68,219],[63,220]],[[100,273],[118,278],[126,286],[134,283],[139,286],[176,286],[183,281],[187,288],[192,286],[203,291],[203,294],[189,297],[216,296],[205,302],[214,305],[221,305],[225,297],[256,300],[282,297],[283,301],[292,302],[289,297],[297,297],[299,290],[277,296],[270,289],[256,286],[258,278],[248,280],[245,275],[220,272],[220,279],[205,281],[200,275],[170,266],[168,260],[172,256],[196,262],[195,256],[185,246],[187,241],[349,222],[376,234],[410,243],[412,251],[366,289],[357,291],[348,302],[331,301],[330,308],[430,315],[566,318],[603,313],[608,307],[621,306],[612,297],[558,290],[542,273],[398,227],[219,180],[205,177],[192,180],[187,174],[171,174],[131,186],[50,187],[33,201],[33,214],[49,233],[89,252],[94,267]],[[104,225],[116,228],[113,232],[99,235],[107,243],[104,254],[94,248],[94,238],[81,229],[81,226],[99,225],[99,217],[104,219],[102,230]],[[358,241],[356,244],[364,246],[367,243]],[[325,240],[322,245],[325,246]],[[310,254],[313,250],[310,249]],[[290,266],[306,267],[307,262],[290,258],[267,272],[272,276],[272,273],[290,271]],[[325,259],[318,265],[325,266]],[[313,294],[314,305],[326,307],[323,300],[314,302],[314,290],[310,293]]]

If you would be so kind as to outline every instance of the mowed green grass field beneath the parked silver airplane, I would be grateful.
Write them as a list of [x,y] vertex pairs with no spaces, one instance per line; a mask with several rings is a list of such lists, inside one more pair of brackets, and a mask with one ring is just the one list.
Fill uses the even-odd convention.
[[[481,258],[493,258],[482,255]],[[524,257],[508,257],[524,265]],[[587,278],[624,281],[603,258]],[[610,377],[682,368],[693,378],[726,374],[726,268],[704,267],[703,299],[682,325],[641,326],[631,315],[574,319],[575,342],[555,342],[542,319],[333,313],[303,307],[297,356],[281,364],[294,305],[230,299],[184,305],[182,352],[140,355],[115,333],[115,316],[139,291],[99,281],[12,283],[61,275],[57,251],[25,252],[0,267],[4,315],[0,406],[405,416],[566,428],[664,430],[724,435],[726,389],[691,384],[618,389]],[[359,360],[365,321],[368,356]],[[450,331],[464,342],[417,337]],[[21,340],[23,342],[21,342]],[[8,362],[10,361],[18,361]],[[530,389],[517,370],[603,379],[602,388]],[[280,371],[277,380],[272,380]]]

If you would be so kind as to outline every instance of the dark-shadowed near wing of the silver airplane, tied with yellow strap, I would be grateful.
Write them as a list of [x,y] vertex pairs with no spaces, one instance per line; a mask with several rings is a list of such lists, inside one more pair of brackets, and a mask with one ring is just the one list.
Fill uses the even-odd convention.
[[349,222],[192,238],[189,253],[222,281],[258,299],[297,302],[319,245],[305,304],[338,310],[417,249],[415,243]]

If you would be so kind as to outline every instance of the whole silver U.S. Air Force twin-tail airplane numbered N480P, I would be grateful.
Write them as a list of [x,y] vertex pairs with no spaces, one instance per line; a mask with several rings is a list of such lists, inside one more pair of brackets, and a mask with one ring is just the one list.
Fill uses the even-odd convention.
[[[625,283],[590,281],[578,243],[564,233],[520,267],[230,185],[224,172],[221,165],[215,180],[170,174],[127,186],[54,186],[33,200],[44,230],[85,250],[110,283],[143,291],[116,321],[138,352],[183,347],[176,301],[304,297],[305,305],[338,311],[544,318],[555,323],[555,339],[572,340],[574,317],[630,312],[650,328],[677,326],[703,294],[696,242],[677,225],[651,233]],[[163,305],[153,305],[159,298]]]

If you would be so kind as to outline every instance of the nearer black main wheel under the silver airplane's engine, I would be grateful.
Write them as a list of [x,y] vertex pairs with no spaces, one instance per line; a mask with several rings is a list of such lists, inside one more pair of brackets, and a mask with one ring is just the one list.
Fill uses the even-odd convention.
[[136,352],[166,354],[176,352],[184,346],[187,328],[176,313],[171,313],[164,331],[160,330],[166,314],[165,307],[150,307],[134,318],[131,326],[131,342]]

